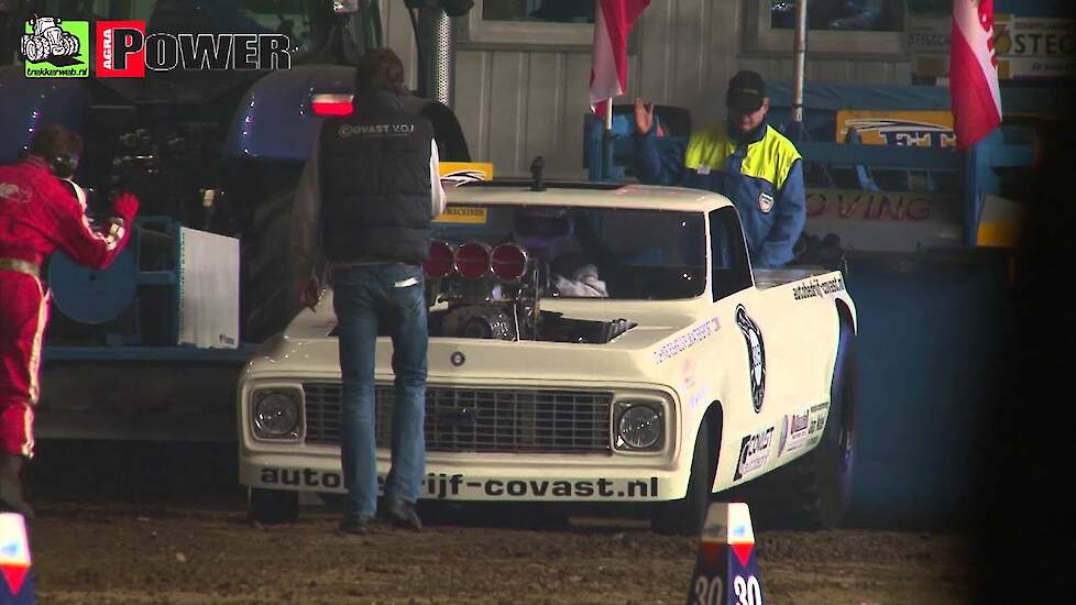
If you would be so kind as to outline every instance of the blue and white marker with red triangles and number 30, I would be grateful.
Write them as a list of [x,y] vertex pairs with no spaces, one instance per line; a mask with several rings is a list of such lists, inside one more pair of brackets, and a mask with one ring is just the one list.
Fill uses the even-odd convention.
[[765,604],[747,504],[711,504],[700,542],[688,605]]

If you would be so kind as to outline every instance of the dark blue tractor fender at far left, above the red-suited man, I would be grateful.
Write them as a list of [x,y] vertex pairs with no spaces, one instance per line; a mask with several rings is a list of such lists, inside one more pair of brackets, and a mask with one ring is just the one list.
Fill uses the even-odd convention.
[[86,94],[68,78],[28,78],[21,65],[0,67],[0,164],[19,160],[34,129],[55,123],[78,132]]

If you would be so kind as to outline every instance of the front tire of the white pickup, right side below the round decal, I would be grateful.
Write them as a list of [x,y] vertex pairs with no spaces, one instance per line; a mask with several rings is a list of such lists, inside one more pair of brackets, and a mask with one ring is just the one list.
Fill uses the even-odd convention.
[[713,495],[711,490],[717,471],[715,458],[711,447],[710,424],[703,421],[699,427],[691,457],[688,493],[682,499],[659,504],[650,519],[650,529],[667,536],[699,536]]

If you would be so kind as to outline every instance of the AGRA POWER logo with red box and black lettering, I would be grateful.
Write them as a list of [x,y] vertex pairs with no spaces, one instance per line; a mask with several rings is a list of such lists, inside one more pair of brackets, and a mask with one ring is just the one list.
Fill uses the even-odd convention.
[[144,21],[97,22],[97,77],[141,78],[153,72],[289,69],[285,34],[145,33]]

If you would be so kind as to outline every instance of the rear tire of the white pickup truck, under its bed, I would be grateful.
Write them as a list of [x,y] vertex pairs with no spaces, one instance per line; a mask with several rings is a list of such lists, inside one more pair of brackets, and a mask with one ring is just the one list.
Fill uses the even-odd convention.
[[759,502],[761,525],[820,530],[844,521],[855,468],[858,367],[855,332],[842,322],[822,440],[772,476],[761,477],[769,480]]

